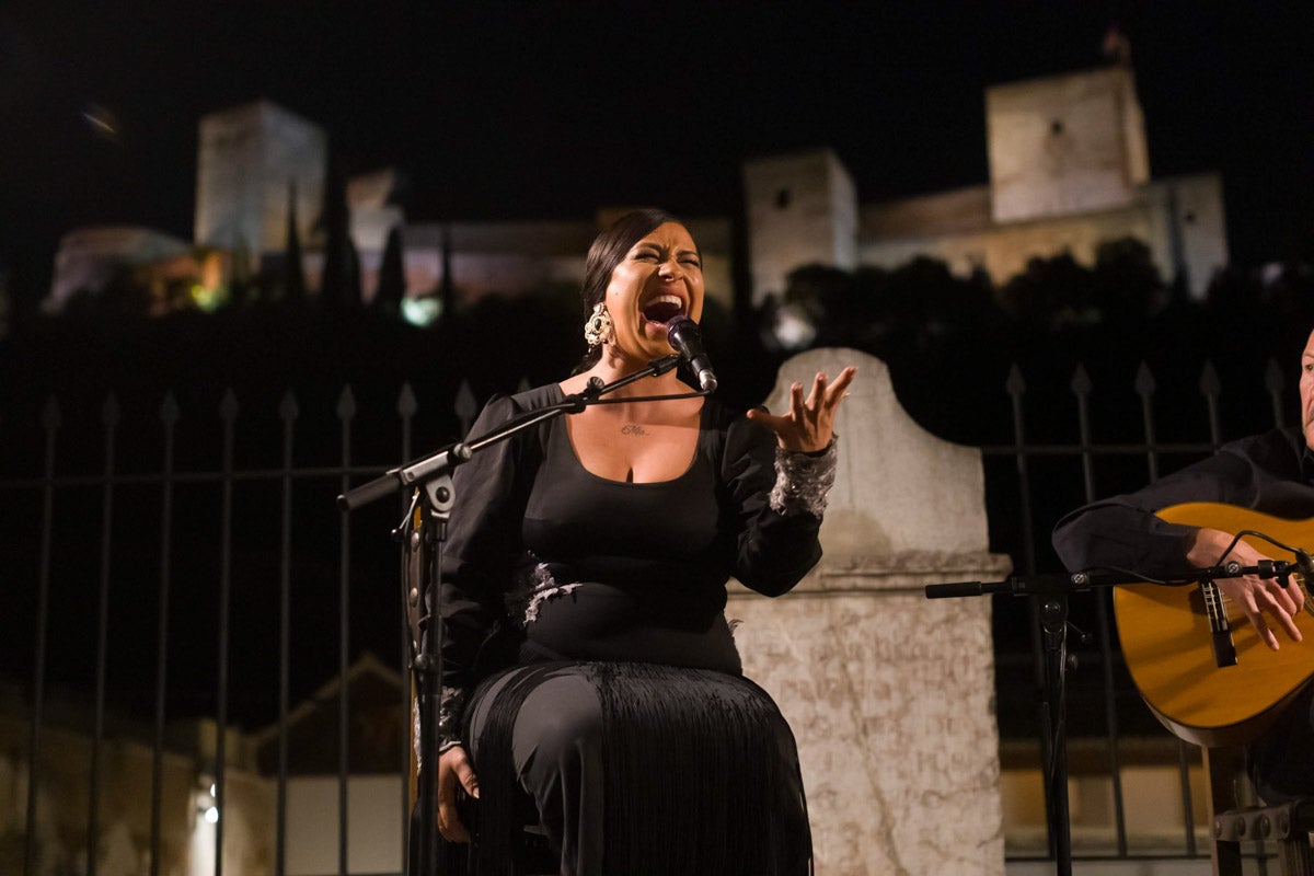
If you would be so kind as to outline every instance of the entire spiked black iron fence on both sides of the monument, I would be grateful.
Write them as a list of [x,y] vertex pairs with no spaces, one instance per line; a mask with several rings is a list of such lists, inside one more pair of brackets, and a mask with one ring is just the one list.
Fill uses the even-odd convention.
[[[1093,390],[1093,381],[1079,368],[1071,383],[1070,431],[1075,440],[1035,440],[1028,435],[1026,385],[1016,368],[1009,374],[1001,395],[1009,402],[1012,441],[984,447],[983,453],[992,541],[997,550],[1013,554],[1020,571],[1053,567],[1045,552],[1059,512],[1097,495],[1135,489],[1158,477],[1166,464],[1208,454],[1223,441],[1222,386],[1209,365],[1198,386],[1205,435],[1196,439],[1166,441],[1156,435],[1156,387],[1144,366],[1131,387],[1141,410],[1141,435],[1134,440],[1097,435],[1091,414]],[[1125,393],[1125,387],[1117,391]],[[1273,423],[1281,426],[1288,387],[1273,364],[1264,394]],[[417,449],[439,444],[428,439],[465,435],[477,411],[468,385],[453,401],[427,408],[409,385],[393,399],[372,397],[363,412],[348,386],[331,414],[325,399],[304,412],[302,399],[289,391],[277,399],[276,415],[269,415],[269,406],[248,415],[231,390],[222,393],[217,418],[184,412],[185,406],[172,394],[155,410],[141,399],[130,399],[125,410],[110,395],[99,416],[89,415],[85,405],[70,415],[55,399],[39,414],[0,411],[7,448],[0,460],[0,574],[7,594],[0,655],[5,666],[26,670],[21,695],[29,722],[25,825],[38,822],[45,711],[53,688],[78,692],[91,716],[87,848],[97,848],[104,821],[99,783],[106,714],[116,709],[150,714],[152,875],[163,860],[160,759],[170,721],[179,714],[215,720],[209,766],[221,812],[231,754],[225,729],[272,722],[277,726],[273,871],[284,872],[286,726],[293,699],[313,688],[314,672],[327,675],[326,666],[336,663],[338,676],[346,679],[352,654],[361,649],[396,654],[398,674],[405,678],[406,672],[403,602],[390,570],[373,562],[378,542],[399,519],[401,499],[396,506],[376,503],[348,517],[336,514],[332,496],[398,460],[413,458]],[[1055,419],[1053,410],[1049,414]],[[311,423],[302,426],[307,418]],[[417,441],[417,435],[427,437]],[[361,458],[386,464],[361,464]],[[1038,468],[1045,469],[1041,486]],[[368,546],[368,563],[355,559],[361,544]],[[87,582],[93,582],[93,591]],[[360,611],[365,600],[369,608]],[[1097,674],[1092,696],[1101,721],[1097,728],[1083,726],[1081,733],[1106,741],[1105,764],[1117,812],[1113,855],[1127,858],[1120,735],[1129,720],[1129,684],[1122,676],[1108,595],[1096,595],[1087,608],[1091,620],[1076,623],[1089,625],[1095,646],[1075,650]],[[1034,616],[1018,624],[1017,616],[1026,612],[1003,603],[995,613],[1001,619],[996,663],[1003,712],[1010,696],[1017,701],[1009,691],[1021,690],[1025,700],[1026,692],[1038,690],[1042,655]],[[268,642],[276,642],[275,659],[269,659]],[[1025,675],[1028,667],[1033,683],[1016,684],[1014,672]],[[338,862],[346,873],[351,767],[346,687],[338,708]],[[406,690],[398,709],[409,711]],[[1026,732],[1003,714],[1001,726],[1005,734]],[[1033,732],[1043,741],[1043,733]],[[399,751],[405,750],[402,739]],[[405,756],[398,760],[398,806],[405,825],[409,763]],[[1179,767],[1188,814],[1180,855],[1198,856],[1190,826],[1188,760],[1181,747]],[[215,873],[225,865],[223,823],[219,820],[215,825]],[[37,872],[38,831],[25,833],[22,872],[30,875]],[[405,837],[398,843],[405,848]],[[96,865],[96,855],[87,855],[87,872],[95,873]]]

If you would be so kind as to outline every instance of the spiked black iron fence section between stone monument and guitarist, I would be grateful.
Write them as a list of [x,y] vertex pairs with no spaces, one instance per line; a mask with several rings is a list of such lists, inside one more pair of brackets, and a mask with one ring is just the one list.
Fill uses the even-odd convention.
[[[1013,440],[1009,444],[996,444],[983,447],[987,466],[988,491],[992,493],[988,502],[991,508],[992,541],[1004,541],[1012,546],[1018,573],[1035,574],[1037,571],[1053,571],[1059,569],[1056,558],[1049,548],[1049,532],[1067,510],[1080,504],[1093,502],[1097,498],[1116,495],[1135,490],[1150,481],[1158,478],[1180,464],[1192,458],[1201,458],[1215,452],[1229,437],[1240,435],[1226,435],[1223,428],[1222,402],[1223,385],[1210,362],[1205,362],[1196,389],[1198,393],[1177,395],[1171,406],[1156,406],[1162,399],[1156,398],[1156,381],[1150,369],[1141,364],[1135,380],[1130,387],[1113,387],[1114,393],[1123,394],[1126,399],[1134,395],[1134,407],[1139,416],[1121,418],[1123,427],[1120,440],[1101,440],[1096,433],[1096,418],[1092,415],[1092,393],[1096,385],[1083,365],[1077,365],[1070,382],[1071,406],[1066,410],[1050,410],[1049,422],[1067,420],[1066,431],[1071,440],[1042,440],[1029,437],[1026,429],[1026,395],[1028,386],[1014,366],[1005,383],[1009,398],[1009,411],[1012,418]],[[1105,387],[1109,389],[1109,387]],[[1127,393],[1127,389],[1131,391]],[[1284,412],[1294,410],[1289,407],[1292,401],[1288,395],[1286,381],[1276,361],[1269,360],[1263,376],[1263,391],[1254,387],[1239,386],[1239,393],[1244,394],[1251,405],[1248,406],[1247,422],[1251,427],[1244,433],[1259,432],[1265,426],[1285,426]],[[1267,403],[1272,422],[1260,424],[1254,420],[1256,399]],[[1053,399],[1050,399],[1053,405]],[[1163,416],[1163,407],[1175,412],[1185,407],[1196,406],[1194,424],[1200,437],[1185,440],[1163,440],[1156,431],[1156,411]],[[1130,406],[1125,406],[1130,407]],[[1123,414],[1130,414],[1125,410]],[[1130,423],[1139,420],[1139,435],[1129,436]],[[1166,464],[1167,462],[1167,464]],[[1038,465],[1047,466],[1043,485],[1038,486],[1034,477]],[[1059,468],[1054,468],[1054,466]],[[1000,494],[1010,494],[1013,502],[1000,502]],[[1058,498],[1056,498],[1058,496]],[[1047,499],[1043,510],[1038,510],[1038,499]],[[1001,506],[1007,506],[1012,515],[1004,514]],[[999,532],[999,527],[1012,527],[1012,537]],[[1043,558],[1043,559],[1042,559]],[[1143,703],[1135,695],[1135,690],[1126,674],[1126,666],[1117,646],[1117,634],[1112,621],[1112,591],[1108,588],[1095,590],[1084,594],[1084,617],[1077,616],[1074,609],[1074,624],[1079,625],[1076,632],[1083,633],[1081,641],[1072,649],[1074,667],[1084,668],[1088,675],[1093,675],[1085,686],[1084,703],[1081,697],[1068,699],[1066,703],[1067,718],[1080,726],[1087,741],[1102,741],[1104,758],[1102,768],[1112,784],[1113,797],[1113,846],[1108,850],[1099,850],[1089,855],[1076,854],[1076,858],[1208,858],[1208,846],[1197,842],[1194,830],[1196,813],[1189,788],[1189,770],[1193,763],[1198,764],[1198,751],[1193,750],[1180,739],[1169,737],[1148,713]],[[1020,607],[1009,604],[1012,598],[996,598],[996,616],[1017,613]],[[1003,676],[1010,668],[1029,666],[1031,671],[1033,696],[1039,697],[1045,684],[1045,661],[1041,641],[1041,621],[1038,617],[1038,600],[1029,600],[1025,607],[1028,616],[1029,641],[1028,647],[1021,647],[1021,642],[1014,637],[1001,636],[996,629],[996,668]],[[1009,696],[1007,686],[999,686],[1000,701]],[[1099,716],[1097,722],[1072,721],[1075,712],[1083,712],[1083,705],[1095,705],[1095,709],[1085,711]],[[1043,705],[1043,704],[1038,704]],[[1172,741],[1176,747],[1176,768],[1181,791],[1183,823],[1180,843],[1175,848],[1158,850],[1150,855],[1137,852],[1129,843],[1129,825],[1125,813],[1125,795],[1122,787],[1123,758],[1120,742],[1125,738],[1127,728],[1134,728],[1138,733],[1160,734]],[[1035,721],[1041,754],[1035,767],[1050,758],[1051,728],[1045,726],[1043,709]],[[1097,746],[1099,747],[1099,746]],[[1085,758],[1088,759],[1088,758]],[[1087,767],[1089,768],[1089,767]],[[1049,801],[1053,805],[1053,801]],[[1050,835],[1050,854],[1054,850],[1053,825]],[[1264,851],[1259,848],[1260,872],[1263,871]]]

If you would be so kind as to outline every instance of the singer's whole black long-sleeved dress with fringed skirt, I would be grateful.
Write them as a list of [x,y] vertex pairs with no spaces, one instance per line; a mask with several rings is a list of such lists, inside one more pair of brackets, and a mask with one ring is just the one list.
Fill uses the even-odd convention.
[[[474,433],[560,399],[495,399]],[[767,429],[707,399],[671,481],[591,474],[564,418],[457,470],[443,684],[472,691],[473,871],[505,867],[528,792],[562,873],[808,872],[794,738],[724,617],[731,575],[779,595],[820,558],[820,519],[767,502],[774,458]]]

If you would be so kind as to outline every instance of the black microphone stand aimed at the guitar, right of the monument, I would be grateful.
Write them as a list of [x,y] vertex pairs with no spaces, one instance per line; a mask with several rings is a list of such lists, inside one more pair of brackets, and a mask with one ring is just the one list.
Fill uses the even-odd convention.
[[[1217,578],[1257,575],[1277,578],[1290,574],[1294,563],[1265,559],[1257,566],[1226,562],[1208,569],[1196,569],[1181,578],[1164,582],[1166,586],[1198,583],[1213,586]],[[1099,570],[1071,574],[1010,575],[1007,580],[963,580],[947,584],[926,584],[926,599],[958,596],[986,596],[1010,594],[1031,596],[1039,602],[1042,647],[1045,653],[1045,701],[1049,751],[1045,762],[1045,796],[1050,829],[1050,852],[1054,855],[1056,876],[1072,876],[1072,829],[1068,812],[1067,771],[1067,670],[1074,658],[1067,653],[1068,596],[1092,587],[1147,583],[1144,577],[1131,573]]]

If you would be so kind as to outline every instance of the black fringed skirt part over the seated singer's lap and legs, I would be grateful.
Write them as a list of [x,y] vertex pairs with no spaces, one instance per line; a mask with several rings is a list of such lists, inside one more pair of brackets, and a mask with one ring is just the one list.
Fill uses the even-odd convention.
[[466,714],[480,777],[469,873],[515,872],[527,799],[564,876],[811,872],[794,734],[742,676],[539,663],[485,682]]

